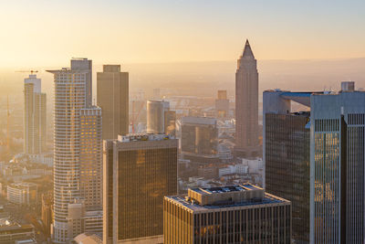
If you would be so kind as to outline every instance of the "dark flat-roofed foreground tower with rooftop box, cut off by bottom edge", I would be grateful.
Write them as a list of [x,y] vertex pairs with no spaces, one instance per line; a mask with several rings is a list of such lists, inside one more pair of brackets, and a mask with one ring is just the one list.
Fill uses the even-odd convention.
[[250,184],[165,196],[164,243],[291,243],[290,202]]

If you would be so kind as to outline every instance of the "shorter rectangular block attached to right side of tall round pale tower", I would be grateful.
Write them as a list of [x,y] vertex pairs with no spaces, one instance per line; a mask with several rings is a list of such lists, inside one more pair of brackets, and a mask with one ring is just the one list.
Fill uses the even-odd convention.
[[93,106],[80,112],[79,190],[87,210],[102,207],[101,109]]

